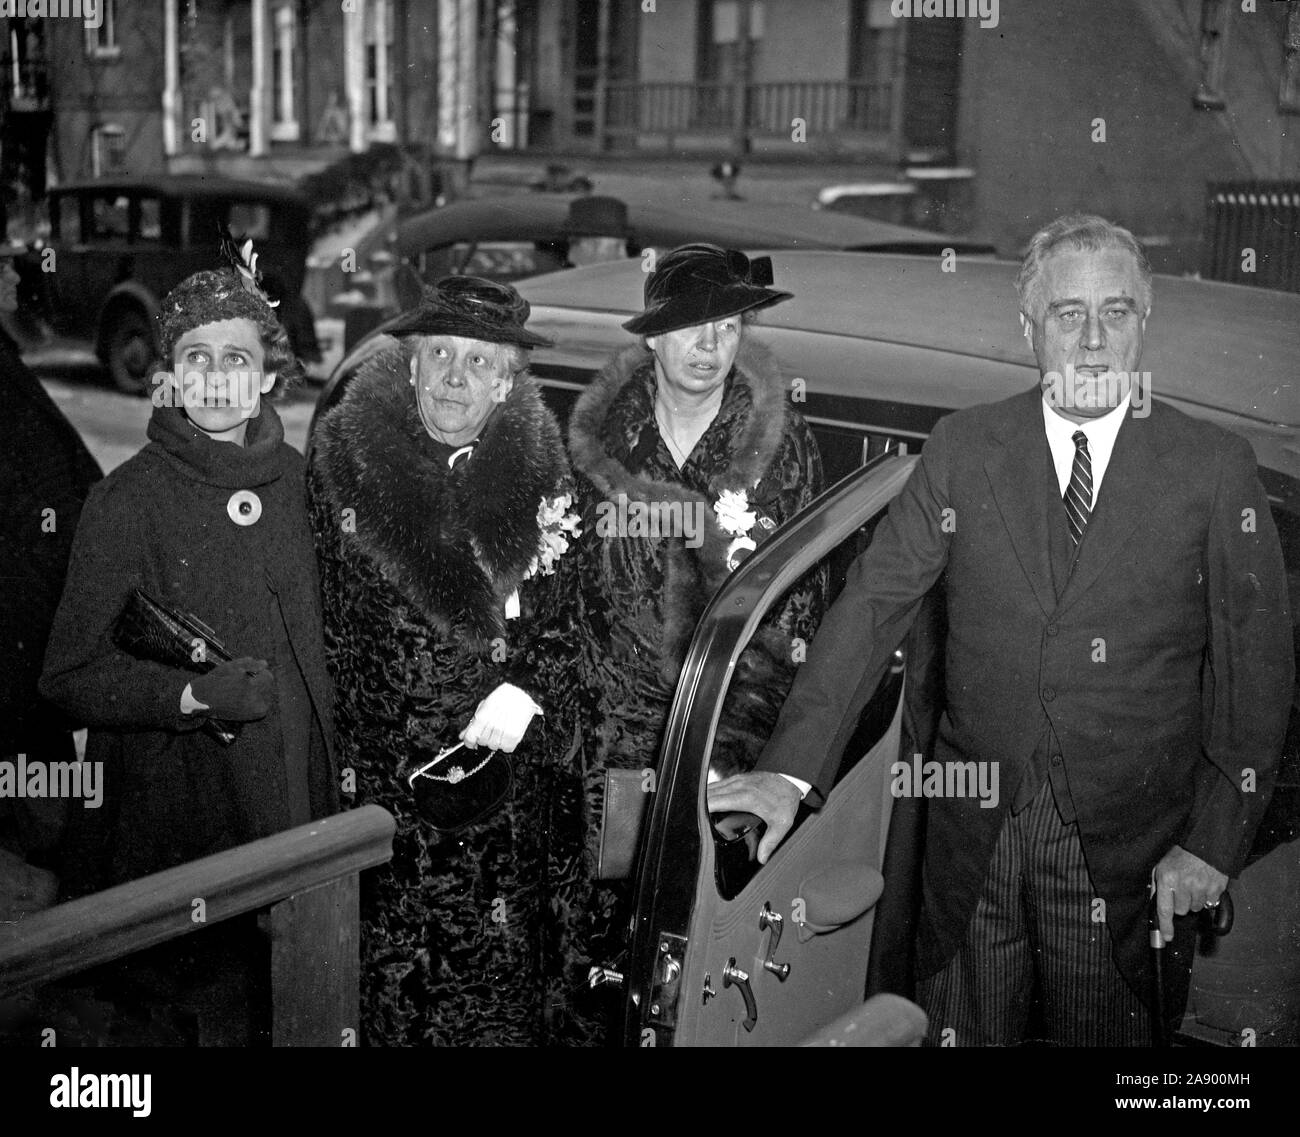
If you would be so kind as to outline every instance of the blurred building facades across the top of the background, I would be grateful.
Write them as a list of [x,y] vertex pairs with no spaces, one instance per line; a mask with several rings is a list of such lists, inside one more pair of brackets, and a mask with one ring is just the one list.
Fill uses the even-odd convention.
[[1005,255],[1074,208],[1134,229],[1165,270],[1231,278],[1214,249],[1251,234],[1295,253],[1296,0],[1001,0],[989,27],[892,0],[101,5],[96,29],[3,21],[20,224],[83,178],[302,182],[328,220],[572,170],[604,192],[680,187],[727,159],[755,198]]

